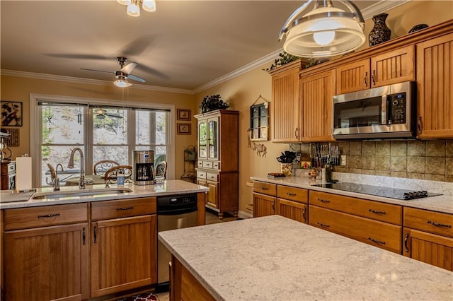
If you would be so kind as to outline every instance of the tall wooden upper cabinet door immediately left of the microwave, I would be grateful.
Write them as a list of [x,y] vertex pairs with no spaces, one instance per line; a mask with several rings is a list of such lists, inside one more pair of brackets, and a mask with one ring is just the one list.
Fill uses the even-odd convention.
[[333,69],[301,79],[304,142],[333,141],[332,97],[336,91],[335,73]]

